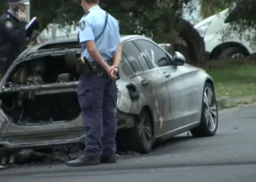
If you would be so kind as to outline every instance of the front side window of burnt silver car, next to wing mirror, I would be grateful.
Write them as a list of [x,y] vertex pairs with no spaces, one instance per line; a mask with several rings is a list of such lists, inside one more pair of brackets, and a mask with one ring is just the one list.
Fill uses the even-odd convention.
[[140,46],[140,51],[143,52],[143,58],[146,59],[149,66],[157,68],[171,65],[166,53],[156,44],[143,39],[136,40],[136,43]]

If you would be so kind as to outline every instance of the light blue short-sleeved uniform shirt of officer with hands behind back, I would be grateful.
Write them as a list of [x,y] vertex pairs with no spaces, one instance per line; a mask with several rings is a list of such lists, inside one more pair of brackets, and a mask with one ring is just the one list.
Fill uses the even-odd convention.
[[[89,61],[92,61],[93,58],[89,55],[88,50],[85,49],[86,41],[95,41],[104,28],[105,18],[106,12],[99,6],[95,6],[89,9],[88,15],[85,15],[80,19],[78,35],[83,49],[82,56]],[[95,43],[97,50],[104,60],[109,60],[116,55],[116,52],[118,52],[119,43],[121,43],[121,39],[118,20],[108,14],[108,24],[105,31]]]

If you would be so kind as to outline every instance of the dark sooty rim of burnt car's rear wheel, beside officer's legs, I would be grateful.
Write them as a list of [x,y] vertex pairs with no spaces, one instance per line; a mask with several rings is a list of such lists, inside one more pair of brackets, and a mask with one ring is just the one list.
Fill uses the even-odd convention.
[[140,125],[139,125],[139,132],[140,132],[140,141],[142,141],[143,146],[148,149],[151,147],[152,141],[152,129],[151,129],[151,122],[147,116],[146,111],[143,111],[140,116]]

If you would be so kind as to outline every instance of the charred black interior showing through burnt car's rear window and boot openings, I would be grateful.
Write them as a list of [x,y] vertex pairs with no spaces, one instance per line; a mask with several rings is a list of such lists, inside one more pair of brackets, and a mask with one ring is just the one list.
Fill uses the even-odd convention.
[[[80,114],[80,106],[75,87],[65,90],[54,88],[53,84],[76,82],[78,55],[48,55],[26,60],[12,70],[5,87],[13,88],[12,92],[1,95],[2,108],[12,117],[15,124],[49,124],[75,119]],[[19,87],[48,87],[48,92],[20,91]],[[11,101],[10,101],[11,100]]]

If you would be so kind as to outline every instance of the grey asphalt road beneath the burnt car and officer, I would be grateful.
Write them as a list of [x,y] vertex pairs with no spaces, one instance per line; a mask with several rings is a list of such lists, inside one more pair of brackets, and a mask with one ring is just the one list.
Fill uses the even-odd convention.
[[255,182],[256,104],[219,112],[211,138],[187,133],[162,143],[147,155],[121,157],[94,167],[34,165],[0,170],[1,182]]

